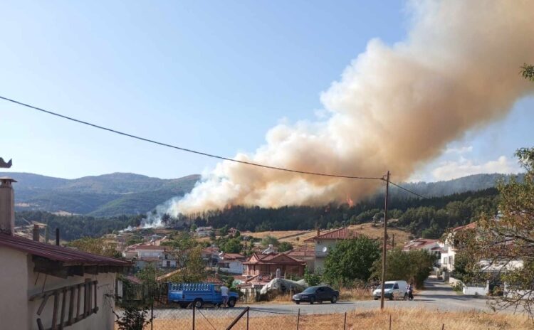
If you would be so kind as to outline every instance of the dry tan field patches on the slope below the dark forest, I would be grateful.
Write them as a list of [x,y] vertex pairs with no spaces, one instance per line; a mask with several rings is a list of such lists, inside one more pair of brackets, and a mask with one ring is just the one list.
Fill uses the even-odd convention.
[[[350,229],[356,230],[358,233],[369,236],[370,238],[382,238],[384,235],[384,228],[381,225],[373,226],[372,223],[362,223],[361,225],[350,225]],[[321,233],[327,233],[330,230],[321,230]],[[404,243],[409,241],[409,233],[404,230],[388,228],[389,238],[395,235],[395,246],[402,247]],[[258,233],[244,232],[243,235],[249,235],[254,238],[264,238],[266,236],[273,236],[278,238],[281,242],[291,243],[293,246],[304,245],[304,241],[308,238],[313,238],[317,235],[316,230],[280,230],[280,231],[262,231]]]

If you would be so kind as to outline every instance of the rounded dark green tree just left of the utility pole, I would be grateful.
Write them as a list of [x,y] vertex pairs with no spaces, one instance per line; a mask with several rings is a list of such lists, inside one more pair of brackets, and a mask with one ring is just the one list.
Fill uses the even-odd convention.
[[340,240],[326,257],[323,278],[333,284],[367,281],[371,276],[371,267],[379,257],[377,240],[365,236]]

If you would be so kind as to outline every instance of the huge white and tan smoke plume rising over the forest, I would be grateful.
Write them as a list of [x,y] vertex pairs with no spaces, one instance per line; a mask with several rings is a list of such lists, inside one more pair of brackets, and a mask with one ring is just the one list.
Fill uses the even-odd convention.
[[[323,92],[328,119],[279,124],[256,152],[235,159],[349,176],[389,169],[402,181],[533,92],[519,71],[534,63],[534,1],[412,1],[409,11],[405,41],[371,40]],[[167,212],[345,202],[380,184],[222,161]]]

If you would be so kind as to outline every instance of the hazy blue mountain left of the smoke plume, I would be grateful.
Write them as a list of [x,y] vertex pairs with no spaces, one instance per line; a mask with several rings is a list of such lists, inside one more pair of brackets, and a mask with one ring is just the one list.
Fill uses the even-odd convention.
[[175,196],[184,196],[199,175],[158,179],[131,173],[61,179],[30,173],[0,173],[15,185],[16,211],[64,211],[94,216],[146,213]]

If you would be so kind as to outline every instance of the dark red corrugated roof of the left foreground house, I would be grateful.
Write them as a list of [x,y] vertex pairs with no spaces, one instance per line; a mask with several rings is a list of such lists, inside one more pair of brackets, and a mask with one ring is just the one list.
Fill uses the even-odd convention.
[[63,262],[65,265],[104,265],[104,266],[128,266],[130,262],[104,257],[103,255],[93,255],[92,253],[64,248],[62,246],[50,245],[46,243],[28,240],[18,235],[7,235],[0,233],[0,246],[12,248],[31,255],[44,257],[48,260]]

